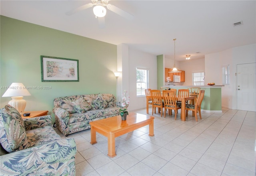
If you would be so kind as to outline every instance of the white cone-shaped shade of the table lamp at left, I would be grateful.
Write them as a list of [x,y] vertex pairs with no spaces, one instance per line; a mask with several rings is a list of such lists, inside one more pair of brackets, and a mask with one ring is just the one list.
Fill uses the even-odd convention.
[[12,83],[2,97],[18,97],[31,95],[22,83]]

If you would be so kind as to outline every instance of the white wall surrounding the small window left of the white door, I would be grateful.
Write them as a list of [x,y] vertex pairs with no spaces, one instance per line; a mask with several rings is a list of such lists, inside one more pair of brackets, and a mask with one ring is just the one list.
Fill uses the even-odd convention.
[[222,85],[222,66],[230,65],[230,85],[222,87],[222,106],[237,109],[236,67],[241,63],[256,62],[256,44],[226,49],[205,55],[205,82]]

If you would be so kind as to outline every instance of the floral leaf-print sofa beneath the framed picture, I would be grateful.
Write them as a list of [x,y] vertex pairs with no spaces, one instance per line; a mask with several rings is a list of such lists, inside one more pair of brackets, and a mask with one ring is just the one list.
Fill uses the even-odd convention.
[[120,114],[121,102],[113,94],[73,95],[54,99],[53,112],[58,129],[67,136],[90,129],[90,122]]

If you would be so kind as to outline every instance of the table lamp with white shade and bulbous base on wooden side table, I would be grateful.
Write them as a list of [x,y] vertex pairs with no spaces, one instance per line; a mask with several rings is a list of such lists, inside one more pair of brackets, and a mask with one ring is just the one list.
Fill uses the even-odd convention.
[[17,109],[20,115],[23,115],[26,107],[26,101],[23,96],[31,95],[22,83],[12,83],[2,97],[12,97],[9,105]]

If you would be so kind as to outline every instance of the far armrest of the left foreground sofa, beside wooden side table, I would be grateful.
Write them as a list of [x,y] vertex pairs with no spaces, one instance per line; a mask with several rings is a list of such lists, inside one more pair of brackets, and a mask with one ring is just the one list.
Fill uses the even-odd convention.
[[23,119],[26,130],[32,130],[45,126],[52,126],[52,116],[45,115]]

